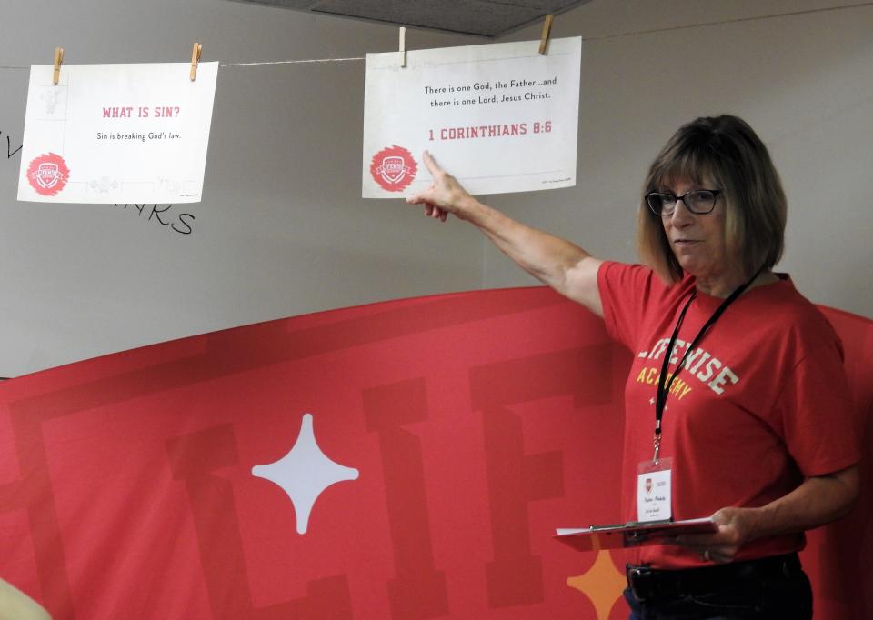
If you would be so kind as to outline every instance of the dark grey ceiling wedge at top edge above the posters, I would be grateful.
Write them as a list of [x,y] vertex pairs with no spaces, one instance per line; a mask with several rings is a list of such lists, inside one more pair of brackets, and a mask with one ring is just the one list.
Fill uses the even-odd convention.
[[590,0],[236,0],[465,35],[506,35]]

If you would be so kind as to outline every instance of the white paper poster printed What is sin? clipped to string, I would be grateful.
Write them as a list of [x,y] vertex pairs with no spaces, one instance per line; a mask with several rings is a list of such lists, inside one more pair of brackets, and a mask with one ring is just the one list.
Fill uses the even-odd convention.
[[194,203],[218,63],[33,65],[18,200]]

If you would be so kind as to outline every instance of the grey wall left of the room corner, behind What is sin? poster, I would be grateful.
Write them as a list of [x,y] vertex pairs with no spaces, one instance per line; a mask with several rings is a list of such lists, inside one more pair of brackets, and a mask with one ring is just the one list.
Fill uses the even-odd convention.
[[[397,28],[227,0],[31,0],[0,11],[0,65],[363,57]],[[483,39],[416,31],[410,48]],[[21,144],[28,71],[0,68],[0,145]],[[481,241],[364,201],[364,61],[221,67],[204,200],[178,235],[112,205],[15,200],[0,157],[0,376],[346,305],[477,288]],[[409,215],[409,216],[404,216]]]

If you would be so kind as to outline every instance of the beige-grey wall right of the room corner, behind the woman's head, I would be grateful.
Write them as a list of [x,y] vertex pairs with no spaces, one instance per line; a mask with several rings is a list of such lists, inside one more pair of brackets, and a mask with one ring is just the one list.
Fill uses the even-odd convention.
[[[639,185],[657,150],[699,115],[740,115],[788,194],[778,269],[819,304],[873,316],[873,6],[756,18],[840,4],[593,0],[558,15],[553,35],[586,39],[577,187],[493,203],[633,261]],[[509,38],[537,36],[531,27]],[[529,283],[487,248],[486,287]]]

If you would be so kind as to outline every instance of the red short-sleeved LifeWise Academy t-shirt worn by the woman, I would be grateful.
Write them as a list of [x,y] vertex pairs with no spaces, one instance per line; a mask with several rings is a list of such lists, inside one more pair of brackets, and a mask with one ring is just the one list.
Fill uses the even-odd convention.
[[[634,354],[625,389],[622,505],[636,521],[637,465],[652,458],[657,379],[695,281],[686,276],[668,286],[647,267],[605,263],[597,284],[607,331]],[[697,293],[667,377],[723,301]],[[676,520],[766,505],[805,477],[858,462],[839,338],[787,275],[740,295],[698,342],[670,389],[662,432],[660,455],[673,458]],[[758,539],[735,559],[798,551],[804,542],[803,534]],[[656,568],[706,564],[676,545],[629,555]]]

